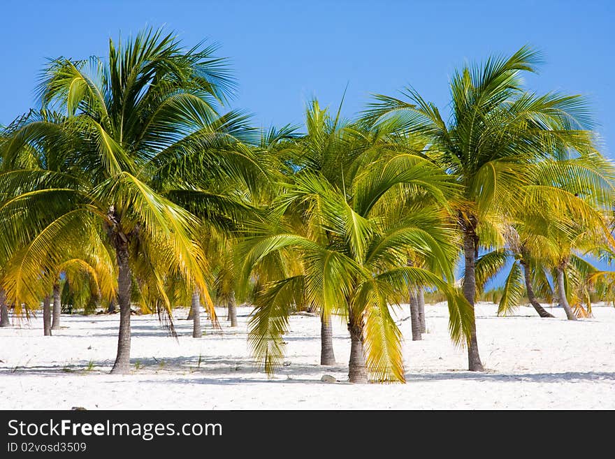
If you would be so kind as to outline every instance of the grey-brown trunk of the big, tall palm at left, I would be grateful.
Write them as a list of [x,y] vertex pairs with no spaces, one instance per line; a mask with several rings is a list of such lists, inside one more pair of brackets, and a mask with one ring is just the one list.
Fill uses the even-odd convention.
[[[121,235],[124,236],[124,235]],[[132,276],[128,263],[128,240],[124,236],[116,237],[115,257],[117,258],[117,303],[120,303],[120,334],[117,337],[117,356],[112,373],[130,372],[130,297]]]

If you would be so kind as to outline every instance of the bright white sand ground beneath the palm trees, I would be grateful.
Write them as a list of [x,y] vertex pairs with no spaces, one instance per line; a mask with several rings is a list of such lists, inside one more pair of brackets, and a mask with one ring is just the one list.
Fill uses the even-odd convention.
[[[594,319],[540,319],[530,307],[496,317],[477,306],[485,373],[465,371],[466,354],[447,333],[447,309],[427,305],[428,333],[410,340],[408,309],[400,313],[407,384],[324,383],[347,380],[349,337],[335,321],[335,367],[318,365],[319,318],[291,318],[287,363],[268,380],[252,365],[246,342],[249,308],[239,327],[206,326],[191,337],[177,312],[179,340],[155,316],[133,316],[133,374],[108,374],[119,316],[62,316],[63,328],[43,337],[42,319],[0,328],[0,409],[615,409],[615,309],[594,307]],[[219,312],[221,318],[224,311]],[[205,323],[203,317],[203,323]],[[198,365],[199,356],[201,364]],[[88,369],[91,363],[92,368]]]

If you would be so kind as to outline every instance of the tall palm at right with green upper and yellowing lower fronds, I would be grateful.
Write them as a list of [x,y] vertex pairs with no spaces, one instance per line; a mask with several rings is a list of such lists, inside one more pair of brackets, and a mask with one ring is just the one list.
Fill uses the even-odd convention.
[[[403,92],[405,100],[376,96],[365,115],[372,124],[396,124],[400,132],[427,138],[433,161],[461,185],[454,210],[463,235],[463,293],[471,305],[479,247],[501,239],[502,218],[519,207],[536,161],[563,151],[594,151],[588,110],[579,96],[523,89],[521,73],[535,71],[539,61],[540,54],[523,47],[511,57],[490,57],[482,66],[454,73],[448,123],[414,89]],[[468,368],[483,370],[475,323]]]

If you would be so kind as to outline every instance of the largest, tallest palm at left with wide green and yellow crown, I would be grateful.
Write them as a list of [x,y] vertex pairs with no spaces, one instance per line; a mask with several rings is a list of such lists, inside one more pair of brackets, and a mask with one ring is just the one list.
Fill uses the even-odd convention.
[[[184,50],[173,34],[150,29],[119,45],[110,40],[107,59],[56,59],[45,71],[41,99],[64,119],[20,123],[3,145],[10,164],[24,146],[63,142],[61,173],[15,170],[13,183],[0,180],[0,191],[16,195],[0,208],[0,218],[41,238],[39,270],[67,245],[85,246],[91,238],[113,249],[120,333],[112,372],[129,372],[135,271],[147,272],[138,277],[142,290],[162,312],[171,313],[165,279],[180,276],[201,291],[216,321],[196,240],[200,221],[172,201],[173,194],[192,190],[192,180],[224,180],[253,162],[249,150],[237,154],[233,147],[245,117],[217,114],[233,80],[213,52],[201,44]],[[17,180],[31,189],[16,192]],[[21,242],[15,234],[3,239],[14,247]],[[17,289],[6,290],[28,303]]]

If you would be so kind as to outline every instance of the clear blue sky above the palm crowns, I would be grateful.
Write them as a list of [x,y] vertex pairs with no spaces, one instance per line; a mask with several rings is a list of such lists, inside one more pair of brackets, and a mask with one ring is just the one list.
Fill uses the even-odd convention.
[[615,7],[586,1],[10,1],[0,27],[0,124],[34,105],[45,58],[106,55],[108,38],[146,26],[173,29],[186,45],[209,38],[231,57],[235,107],[254,123],[298,124],[305,102],[344,113],[370,93],[414,86],[443,110],[456,66],[529,43],[546,62],[527,78],[537,92],[585,94],[602,150],[614,157]]

